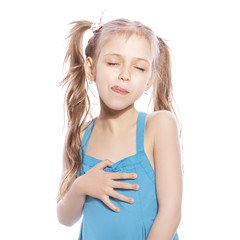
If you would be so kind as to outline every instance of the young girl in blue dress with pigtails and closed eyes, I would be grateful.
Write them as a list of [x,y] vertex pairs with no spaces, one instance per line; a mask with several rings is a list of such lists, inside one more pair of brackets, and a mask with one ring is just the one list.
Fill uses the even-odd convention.
[[[182,171],[168,47],[135,21],[74,24],[62,81],[68,132],[59,222],[71,226],[83,214],[79,240],[177,240]],[[83,34],[91,28],[84,58]],[[99,94],[95,118],[88,81]],[[135,101],[151,86],[154,111],[137,111]]]

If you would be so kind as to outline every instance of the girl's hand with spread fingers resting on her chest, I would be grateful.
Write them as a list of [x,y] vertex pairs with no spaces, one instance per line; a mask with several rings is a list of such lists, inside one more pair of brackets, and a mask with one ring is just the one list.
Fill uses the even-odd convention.
[[134,199],[116,192],[114,188],[138,190],[139,185],[114,181],[114,179],[136,179],[137,176],[134,177],[134,173],[105,172],[103,169],[112,163],[113,162],[110,160],[105,159],[92,167],[88,172],[82,175],[82,177],[85,179],[83,185],[86,195],[100,199],[110,209],[118,212],[119,209],[113,205],[109,196],[128,203],[133,203]]

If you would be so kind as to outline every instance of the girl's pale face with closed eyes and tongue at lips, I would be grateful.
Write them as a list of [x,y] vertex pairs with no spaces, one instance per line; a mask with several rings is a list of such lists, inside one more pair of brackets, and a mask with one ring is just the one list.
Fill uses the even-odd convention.
[[133,105],[153,78],[151,47],[144,37],[116,35],[101,49],[95,82],[100,102],[108,108],[121,110]]

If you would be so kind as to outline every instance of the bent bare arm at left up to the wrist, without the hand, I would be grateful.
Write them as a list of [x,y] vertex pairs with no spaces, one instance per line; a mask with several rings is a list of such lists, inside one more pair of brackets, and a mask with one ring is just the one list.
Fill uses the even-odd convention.
[[[66,154],[63,151],[62,178],[67,168]],[[86,200],[83,186],[84,175],[76,178],[68,192],[58,201],[57,217],[61,224],[72,226],[81,218],[83,205]]]

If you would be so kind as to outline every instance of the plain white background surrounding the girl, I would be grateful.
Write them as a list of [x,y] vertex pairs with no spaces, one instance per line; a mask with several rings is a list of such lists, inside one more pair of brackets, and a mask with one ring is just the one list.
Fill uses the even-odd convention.
[[[184,145],[181,240],[240,239],[237,1],[2,1],[0,239],[77,239],[58,223],[69,22],[124,17],[171,49]],[[141,100],[142,101],[142,100]],[[145,101],[136,105],[147,111]],[[97,114],[98,112],[96,112]]]

